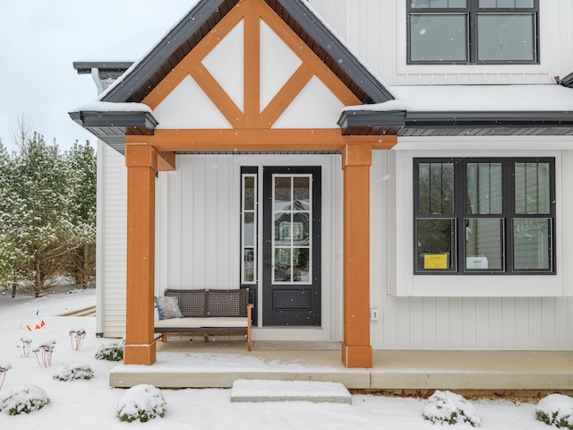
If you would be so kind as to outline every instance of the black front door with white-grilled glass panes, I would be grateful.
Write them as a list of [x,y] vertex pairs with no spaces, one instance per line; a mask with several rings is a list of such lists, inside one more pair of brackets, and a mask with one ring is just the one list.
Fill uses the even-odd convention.
[[321,325],[321,168],[263,169],[262,322]]

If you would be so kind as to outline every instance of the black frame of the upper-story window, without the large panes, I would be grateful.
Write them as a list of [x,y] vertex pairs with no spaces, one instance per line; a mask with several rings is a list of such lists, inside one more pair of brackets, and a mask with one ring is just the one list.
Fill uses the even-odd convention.
[[[430,0],[432,1],[432,0]],[[533,8],[519,7],[479,7],[479,0],[467,0],[466,7],[463,8],[415,8],[413,0],[406,0],[406,64],[474,64],[474,65],[492,65],[492,64],[540,64],[539,53],[539,0],[533,0]],[[411,40],[411,15],[412,14],[444,14],[444,13],[465,13],[466,14],[466,60],[465,61],[413,61],[412,58],[412,40]],[[477,41],[478,25],[477,19],[479,14],[511,14],[511,13],[532,13],[534,16],[533,34],[534,34],[534,52],[533,60],[478,60]],[[469,29],[469,30],[467,30]]]

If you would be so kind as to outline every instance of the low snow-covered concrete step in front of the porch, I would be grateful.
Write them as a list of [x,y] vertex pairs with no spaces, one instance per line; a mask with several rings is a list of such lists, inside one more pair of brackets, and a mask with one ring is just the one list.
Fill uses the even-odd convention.
[[311,401],[352,404],[352,396],[342,383],[238,379],[231,388],[231,401]]

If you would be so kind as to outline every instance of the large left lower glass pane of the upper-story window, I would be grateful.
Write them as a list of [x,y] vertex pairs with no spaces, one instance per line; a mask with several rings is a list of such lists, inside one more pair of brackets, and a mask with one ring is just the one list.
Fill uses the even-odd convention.
[[410,61],[466,62],[466,13],[410,13]]

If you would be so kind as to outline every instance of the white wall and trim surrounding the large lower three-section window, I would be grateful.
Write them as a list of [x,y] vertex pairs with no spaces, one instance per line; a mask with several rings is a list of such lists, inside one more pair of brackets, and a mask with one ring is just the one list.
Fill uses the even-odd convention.
[[[448,138],[447,138],[448,139]],[[543,142],[542,142],[543,140]],[[406,141],[408,141],[406,139]],[[484,142],[487,141],[487,142]],[[379,321],[372,323],[372,347],[377,349],[491,349],[491,350],[569,350],[573,348],[573,291],[571,288],[572,270],[567,262],[573,257],[572,228],[566,219],[573,218],[573,207],[566,199],[568,184],[573,181],[573,172],[563,166],[573,162],[573,151],[563,150],[567,142],[563,138],[531,139],[531,142],[514,140],[502,142],[495,138],[467,138],[466,142],[449,139],[437,140],[410,139],[398,144],[397,150],[374,151],[372,164],[372,205],[371,205],[371,305],[379,310]],[[411,185],[406,188],[406,176],[412,176],[412,157],[432,156],[441,150],[452,149],[463,144],[471,152],[480,146],[489,148],[489,155],[495,156],[493,148],[500,156],[523,156],[540,154],[539,148],[545,145],[544,155],[556,157],[557,214],[557,274],[541,276],[488,277],[483,281],[483,290],[493,282],[506,288],[508,282],[519,288],[526,282],[535,282],[540,297],[515,296],[492,297],[481,294],[479,286],[468,294],[462,277],[458,280],[458,294],[440,295],[439,289],[426,297],[415,296],[410,291],[400,294],[404,283],[411,282],[413,275],[413,215],[406,213],[405,204],[399,196],[411,196]],[[525,148],[524,148],[525,147]],[[531,150],[526,150],[529,147]],[[404,150],[401,150],[403,148]],[[417,150],[416,150],[417,148]],[[422,149],[423,148],[423,149]],[[553,148],[553,150],[552,150]],[[410,161],[408,161],[408,159]],[[406,160],[406,161],[405,161]],[[409,197],[406,197],[409,198]],[[410,198],[411,200],[411,198]],[[402,201],[402,202],[400,202]],[[409,233],[403,233],[409,232]],[[423,280],[423,275],[417,279]],[[435,278],[435,277],[434,277]],[[443,277],[442,277],[443,278]],[[479,282],[479,276],[463,277]],[[432,277],[425,277],[432,279]],[[511,279],[508,281],[508,279]],[[560,290],[543,296],[545,284],[558,282]],[[505,284],[504,284],[505,283]],[[474,288],[474,287],[472,287]],[[417,290],[419,293],[420,290]],[[483,291],[482,291],[483,293]],[[483,297],[479,297],[482,296]],[[441,296],[441,297],[440,297]],[[458,297],[456,297],[458,296]]]

